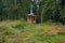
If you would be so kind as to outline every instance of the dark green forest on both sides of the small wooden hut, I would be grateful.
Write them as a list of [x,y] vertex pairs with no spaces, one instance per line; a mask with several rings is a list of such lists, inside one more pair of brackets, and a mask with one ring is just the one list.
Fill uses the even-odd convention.
[[[25,18],[30,10],[31,0],[2,0],[0,1],[0,20]],[[52,19],[65,23],[65,0],[41,0],[39,2],[41,22]],[[36,9],[35,9],[36,11]]]

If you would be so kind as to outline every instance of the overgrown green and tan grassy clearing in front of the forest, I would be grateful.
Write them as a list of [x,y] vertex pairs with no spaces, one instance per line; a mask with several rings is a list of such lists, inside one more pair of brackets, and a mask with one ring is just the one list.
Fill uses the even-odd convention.
[[64,31],[65,26],[55,23],[9,22],[0,26],[0,43],[63,43]]

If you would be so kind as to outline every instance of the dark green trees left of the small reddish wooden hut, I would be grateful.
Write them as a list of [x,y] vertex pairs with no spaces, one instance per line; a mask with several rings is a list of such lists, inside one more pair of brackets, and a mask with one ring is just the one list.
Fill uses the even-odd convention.
[[2,0],[0,20],[26,18],[29,11],[30,0]]

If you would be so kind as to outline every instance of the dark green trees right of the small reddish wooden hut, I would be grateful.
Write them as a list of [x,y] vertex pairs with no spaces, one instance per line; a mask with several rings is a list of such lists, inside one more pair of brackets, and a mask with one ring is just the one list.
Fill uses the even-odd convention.
[[43,22],[52,19],[65,24],[65,0],[42,0],[40,4]]

